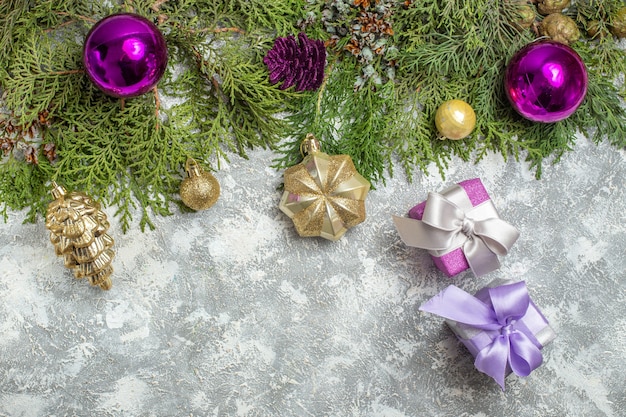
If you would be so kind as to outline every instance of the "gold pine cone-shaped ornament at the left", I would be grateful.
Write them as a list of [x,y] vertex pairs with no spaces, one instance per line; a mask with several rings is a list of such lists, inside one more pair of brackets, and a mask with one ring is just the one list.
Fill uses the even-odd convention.
[[107,234],[109,222],[100,204],[80,192],[68,194],[56,182],[51,192],[55,200],[48,205],[46,228],[57,256],[63,256],[76,278],[110,289],[114,241]]

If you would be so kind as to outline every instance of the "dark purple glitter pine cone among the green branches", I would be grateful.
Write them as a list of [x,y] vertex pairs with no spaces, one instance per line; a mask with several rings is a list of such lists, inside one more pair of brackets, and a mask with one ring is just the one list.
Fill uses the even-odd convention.
[[270,73],[270,83],[280,81],[281,90],[295,86],[296,91],[318,89],[324,80],[326,48],[324,42],[298,34],[276,38],[274,46],[267,52],[263,62]]

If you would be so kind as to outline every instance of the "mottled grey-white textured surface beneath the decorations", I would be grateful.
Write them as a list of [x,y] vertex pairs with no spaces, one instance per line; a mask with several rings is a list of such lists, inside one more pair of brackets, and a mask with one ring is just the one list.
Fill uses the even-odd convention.
[[[523,162],[454,160],[443,181],[402,175],[370,192],[338,242],[300,238],[278,208],[282,172],[254,151],[216,176],[202,213],[116,239],[113,288],[76,281],[43,221],[0,224],[0,415],[626,415],[626,152],[579,138],[535,180]],[[433,173],[436,170],[433,168]],[[392,214],[480,177],[521,230],[502,268],[437,271]],[[556,330],[544,364],[507,390],[417,311],[455,283],[526,280]]]

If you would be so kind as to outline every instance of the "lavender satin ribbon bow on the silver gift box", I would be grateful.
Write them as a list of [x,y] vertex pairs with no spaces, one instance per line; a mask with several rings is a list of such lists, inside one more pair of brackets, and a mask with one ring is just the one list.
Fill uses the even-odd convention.
[[488,292],[491,305],[450,285],[419,309],[473,328],[499,331],[478,353],[474,365],[504,390],[507,367],[516,375],[530,375],[543,362],[542,346],[520,320],[530,305],[524,281],[490,288]]

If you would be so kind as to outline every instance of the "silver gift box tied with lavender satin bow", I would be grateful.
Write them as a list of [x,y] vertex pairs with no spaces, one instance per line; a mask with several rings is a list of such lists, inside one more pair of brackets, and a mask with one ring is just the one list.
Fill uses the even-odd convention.
[[474,296],[450,285],[420,310],[444,317],[474,356],[476,369],[503,391],[511,372],[528,376],[541,365],[541,349],[556,337],[524,281],[496,280]]

